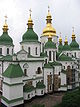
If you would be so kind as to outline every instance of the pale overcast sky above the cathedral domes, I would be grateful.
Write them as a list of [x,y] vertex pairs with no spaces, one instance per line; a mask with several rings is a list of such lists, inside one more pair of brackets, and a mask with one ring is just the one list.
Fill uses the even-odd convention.
[[32,10],[34,31],[39,40],[46,26],[48,5],[52,15],[52,25],[57,36],[62,35],[63,42],[67,36],[71,42],[72,27],[75,28],[76,40],[80,43],[80,0],[0,0],[0,35],[7,15],[8,34],[13,39],[15,52],[20,50],[22,35],[27,30],[29,9]]

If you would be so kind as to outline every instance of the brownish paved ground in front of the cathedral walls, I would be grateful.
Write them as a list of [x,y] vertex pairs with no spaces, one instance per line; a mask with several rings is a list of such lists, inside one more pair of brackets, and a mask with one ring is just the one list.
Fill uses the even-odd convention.
[[45,107],[52,107],[62,101],[63,93],[55,93],[46,95],[42,98],[33,99],[31,102],[25,104],[25,107],[32,107],[33,104],[45,104]]

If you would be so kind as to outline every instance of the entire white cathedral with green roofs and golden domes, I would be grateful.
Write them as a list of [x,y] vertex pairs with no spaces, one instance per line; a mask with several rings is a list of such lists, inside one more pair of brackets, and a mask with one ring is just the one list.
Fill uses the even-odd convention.
[[27,31],[22,35],[21,49],[17,53],[8,34],[6,20],[3,25],[0,36],[0,91],[4,107],[20,107],[35,96],[72,90],[80,85],[80,49],[74,29],[70,44],[67,37],[62,43],[61,34],[58,41],[49,9],[40,41],[33,25],[30,12]]

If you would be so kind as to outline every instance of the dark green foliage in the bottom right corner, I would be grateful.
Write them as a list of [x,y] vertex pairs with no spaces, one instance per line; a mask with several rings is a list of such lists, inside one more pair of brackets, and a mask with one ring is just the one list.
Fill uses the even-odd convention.
[[66,93],[62,99],[62,107],[80,107],[80,90]]

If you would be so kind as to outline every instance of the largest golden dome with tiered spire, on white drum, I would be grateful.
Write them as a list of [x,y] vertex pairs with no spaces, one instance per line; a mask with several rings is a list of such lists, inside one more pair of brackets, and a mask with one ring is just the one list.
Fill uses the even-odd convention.
[[[48,7],[49,8],[49,7]],[[52,27],[52,17],[50,14],[50,10],[48,9],[48,15],[46,16],[46,27],[43,29],[43,36],[56,36],[56,30]]]

